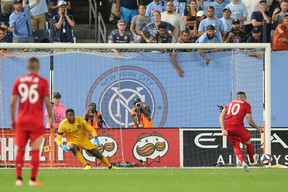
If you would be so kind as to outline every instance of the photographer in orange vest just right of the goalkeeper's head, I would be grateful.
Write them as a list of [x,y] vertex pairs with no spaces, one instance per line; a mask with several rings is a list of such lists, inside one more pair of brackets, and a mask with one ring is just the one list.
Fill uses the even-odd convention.
[[103,128],[103,124],[106,126],[102,114],[96,110],[96,103],[90,103],[88,105],[83,118],[96,129]]

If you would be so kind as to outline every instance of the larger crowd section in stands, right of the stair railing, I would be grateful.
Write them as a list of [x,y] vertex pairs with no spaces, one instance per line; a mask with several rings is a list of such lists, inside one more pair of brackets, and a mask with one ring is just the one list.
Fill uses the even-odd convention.
[[[109,43],[271,43],[288,50],[287,0],[116,0]],[[189,32],[189,33],[188,33]]]

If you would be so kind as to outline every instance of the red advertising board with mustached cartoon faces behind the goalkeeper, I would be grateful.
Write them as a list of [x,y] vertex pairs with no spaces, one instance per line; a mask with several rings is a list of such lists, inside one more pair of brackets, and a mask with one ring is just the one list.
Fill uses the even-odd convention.
[[[2,130],[0,139],[0,165],[14,165],[14,134]],[[111,163],[130,162],[140,167],[179,167],[179,129],[102,129],[97,130],[101,146],[99,152]],[[120,137],[122,135],[122,138]],[[51,141],[54,141],[51,143]],[[63,138],[63,142],[66,139]],[[31,147],[26,146],[25,165],[29,165]],[[82,150],[84,158],[93,167],[105,165]],[[51,158],[54,160],[51,161]],[[55,137],[47,131],[40,150],[41,167],[83,167],[72,152],[64,152],[56,145]]]

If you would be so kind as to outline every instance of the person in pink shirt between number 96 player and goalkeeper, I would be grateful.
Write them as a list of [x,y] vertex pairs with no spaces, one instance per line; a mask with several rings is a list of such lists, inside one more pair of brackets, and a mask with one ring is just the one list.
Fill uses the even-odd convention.
[[[59,92],[53,93],[53,122],[54,122],[54,128],[58,128],[59,124],[63,119],[66,117],[66,108],[61,103],[61,94]],[[45,118],[47,122],[49,122],[48,112],[47,109],[45,111]],[[46,124],[46,128],[50,128],[49,123]]]

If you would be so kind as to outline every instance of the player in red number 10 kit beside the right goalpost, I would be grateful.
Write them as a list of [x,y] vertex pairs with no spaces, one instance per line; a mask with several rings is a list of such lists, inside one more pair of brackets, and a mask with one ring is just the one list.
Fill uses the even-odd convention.
[[250,140],[249,131],[244,127],[244,117],[250,126],[262,133],[261,127],[258,127],[252,119],[251,105],[246,102],[246,94],[243,91],[237,93],[237,99],[229,102],[222,110],[219,122],[222,129],[222,135],[227,136],[228,141],[234,149],[234,153],[241,162],[243,168],[247,171],[248,166],[244,161],[243,152],[240,149],[240,143],[246,145],[247,154],[251,163],[254,162],[254,147]]

